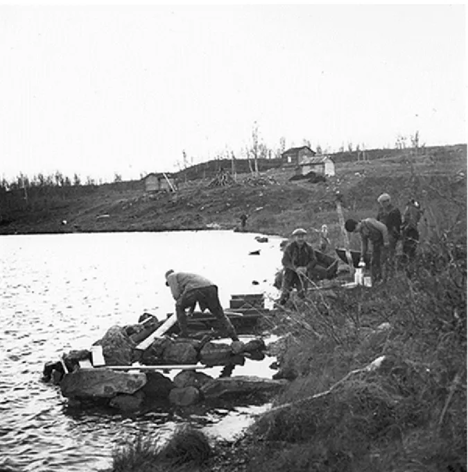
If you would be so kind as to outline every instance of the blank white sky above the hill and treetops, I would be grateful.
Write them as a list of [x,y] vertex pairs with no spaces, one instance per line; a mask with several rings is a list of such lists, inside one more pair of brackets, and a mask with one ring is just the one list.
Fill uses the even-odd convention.
[[465,6],[0,6],[0,176],[139,178],[257,121],[310,140],[466,142]]

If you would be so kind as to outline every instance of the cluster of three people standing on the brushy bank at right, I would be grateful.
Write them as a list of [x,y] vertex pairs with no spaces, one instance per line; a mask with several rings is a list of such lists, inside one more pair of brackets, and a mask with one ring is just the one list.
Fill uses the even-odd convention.
[[377,199],[379,212],[376,218],[365,218],[361,221],[348,219],[345,228],[349,233],[361,235],[361,261],[367,253],[368,243],[372,243],[371,276],[372,282],[392,276],[397,261],[395,258],[397,244],[402,241],[402,262],[413,262],[419,243],[418,224],[422,217],[421,206],[415,199],[408,201],[403,218],[400,210],[392,205],[389,194],[381,194]]

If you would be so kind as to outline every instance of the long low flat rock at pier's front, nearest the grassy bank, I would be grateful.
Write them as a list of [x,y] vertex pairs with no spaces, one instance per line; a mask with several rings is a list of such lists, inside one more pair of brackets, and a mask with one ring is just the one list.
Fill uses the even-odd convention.
[[220,398],[226,395],[264,394],[279,391],[288,385],[287,380],[270,380],[254,376],[216,378],[202,385],[200,391],[205,398]]

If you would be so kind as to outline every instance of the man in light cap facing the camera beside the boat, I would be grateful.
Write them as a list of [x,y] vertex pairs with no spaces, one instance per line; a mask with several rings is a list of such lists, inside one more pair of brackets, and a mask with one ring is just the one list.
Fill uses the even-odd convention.
[[284,267],[283,283],[279,304],[285,305],[293,288],[297,289],[298,295],[304,298],[309,285],[307,273],[317,264],[317,258],[311,244],[306,242],[306,230],[297,228],[293,231],[294,241],[284,249],[281,264]]

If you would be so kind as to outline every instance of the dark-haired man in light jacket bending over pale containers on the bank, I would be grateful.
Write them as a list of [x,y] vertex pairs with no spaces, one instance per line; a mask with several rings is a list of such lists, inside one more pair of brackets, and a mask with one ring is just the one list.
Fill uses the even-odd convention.
[[[386,252],[390,246],[387,227],[374,218],[366,218],[361,221],[348,219],[345,223],[348,233],[359,233],[361,235],[361,261],[367,253],[369,241],[372,242],[372,259],[370,263],[372,283],[382,280],[382,260],[385,260]],[[386,274],[385,274],[386,278]]]

